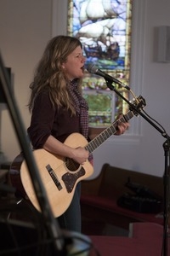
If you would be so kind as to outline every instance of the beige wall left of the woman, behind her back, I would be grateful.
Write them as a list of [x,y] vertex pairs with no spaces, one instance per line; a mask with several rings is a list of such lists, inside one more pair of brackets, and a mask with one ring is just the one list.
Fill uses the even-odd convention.
[[[51,1],[1,0],[0,49],[5,66],[12,68],[14,96],[26,127],[30,122],[26,104],[29,84],[37,61],[51,38]],[[8,160],[20,153],[8,110],[1,111],[1,149]]]

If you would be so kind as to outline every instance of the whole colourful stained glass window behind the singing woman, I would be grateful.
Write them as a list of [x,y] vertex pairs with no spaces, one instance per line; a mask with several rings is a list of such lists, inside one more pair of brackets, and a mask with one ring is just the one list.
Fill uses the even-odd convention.
[[[80,39],[87,58],[86,68],[94,65],[123,84],[129,84],[132,0],[69,0],[68,35]],[[128,90],[113,84],[128,99]],[[127,103],[110,90],[105,79],[85,73],[83,95],[89,105],[89,125],[111,124]]]

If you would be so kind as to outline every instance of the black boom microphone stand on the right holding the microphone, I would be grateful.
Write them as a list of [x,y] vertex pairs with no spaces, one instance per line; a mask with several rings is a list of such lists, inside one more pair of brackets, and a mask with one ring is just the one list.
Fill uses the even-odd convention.
[[[164,171],[164,228],[163,228],[163,246],[161,251],[161,256],[167,256],[167,237],[168,237],[168,205],[169,205],[169,171],[170,171],[170,165],[169,165],[169,154],[170,154],[170,137],[167,135],[167,133],[164,130],[161,130],[160,127],[158,127],[155,123],[153,123],[144,113],[141,113],[140,108],[138,106],[135,106],[131,102],[129,102],[122,94],[116,90],[116,88],[112,85],[113,81],[105,79],[105,82],[107,84],[107,87],[110,90],[114,90],[118,96],[122,98],[123,101],[127,102],[127,104],[130,106],[130,109],[133,110],[135,113],[139,113],[140,116],[142,116],[150,125],[152,125],[157,131],[161,133],[162,137],[166,138],[166,141],[163,143],[163,149],[164,149],[164,156],[165,156],[165,171]],[[122,84],[120,81],[117,81],[117,84]],[[128,86],[124,86],[127,88],[127,90],[130,90]]]

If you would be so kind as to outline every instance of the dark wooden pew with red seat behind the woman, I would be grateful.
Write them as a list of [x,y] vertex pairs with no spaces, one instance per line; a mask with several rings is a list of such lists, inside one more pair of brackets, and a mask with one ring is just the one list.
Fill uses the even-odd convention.
[[163,224],[163,203],[159,212],[136,212],[117,205],[117,200],[131,193],[125,184],[127,180],[149,188],[163,198],[163,178],[149,174],[133,172],[105,164],[99,174],[91,180],[82,181],[82,218],[101,221],[128,230],[134,222]]

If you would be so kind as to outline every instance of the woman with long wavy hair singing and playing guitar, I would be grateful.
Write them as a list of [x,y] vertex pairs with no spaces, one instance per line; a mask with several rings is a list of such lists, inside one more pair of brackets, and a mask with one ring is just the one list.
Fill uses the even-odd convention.
[[[88,160],[88,151],[64,142],[73,132],[87,139],[93,137],[93,130],[88,128],[88,104],[81,93],[85,61],[77,38],[58,36],[48,42],[30,85],[31,125],[27,130],[34,149],[44,148],[80,165]],[[127,123],[121,123],[117,134],[127,127]],[[80,183],[70,207],[58,221],[62,229],[81,232]]]

